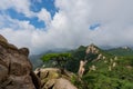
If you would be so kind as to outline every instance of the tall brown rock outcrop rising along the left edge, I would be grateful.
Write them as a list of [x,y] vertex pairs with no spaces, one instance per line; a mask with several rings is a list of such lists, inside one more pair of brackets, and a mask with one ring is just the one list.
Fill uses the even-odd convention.
[[18,49],[0,34],[0,89],[41,89],[27,48]]

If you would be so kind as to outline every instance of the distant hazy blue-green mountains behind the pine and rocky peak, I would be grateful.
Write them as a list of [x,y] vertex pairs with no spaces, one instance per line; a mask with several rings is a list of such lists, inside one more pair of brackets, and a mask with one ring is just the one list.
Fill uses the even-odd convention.
[[[85,47],[85,46],[84,46]],[[133,55],[133,49],[130,47],[117,47],[117,48],[110,48],[110,47],[102,47],[102,50],[104,50],[108,53],[114,55],[114,56],[132,56]],[[76,50],[76,49],[53,49],[53,50],[49,50],[45,52],[42,52],[40,55],[31,55],[30,56],[30,60],[33,65],[33,68],[35,69],[37,67],[41,67],[43,65],[41,57],[43,55],[48,55],[48,53],[60,53],[60,52],[66,52],[66,51],[71,51],[71,50]]]

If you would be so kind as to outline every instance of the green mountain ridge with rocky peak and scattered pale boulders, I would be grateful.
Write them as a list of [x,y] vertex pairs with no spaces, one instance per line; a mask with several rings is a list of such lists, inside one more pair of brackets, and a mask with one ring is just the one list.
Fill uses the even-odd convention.
[[[64,67],[66,70],[76,73],[80,66],[79,62],[81,60],[88,61],[84,66],[85,71],[81,78],[82,82],[76,79],[73,80],[73,83],[79,89],[132,89],[133,53],[124,55],[129,52],[129,49],[116,48],[103,50],[95,44],[88,47],[80,46],[78,49],[69,51],[72,55],[72,59],[68,60]],[[117,52],[112,50],[116,50]]]

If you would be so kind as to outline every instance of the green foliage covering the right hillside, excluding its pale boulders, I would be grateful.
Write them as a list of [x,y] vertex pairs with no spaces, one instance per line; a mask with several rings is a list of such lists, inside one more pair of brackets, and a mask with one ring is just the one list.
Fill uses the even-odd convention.
[[[73,83],[79,89],[133,89],[133,53],[123,55],[123,51],[117,50],[116,53],[110,53],[104,50],[100,50],[100,53],[106,57],[105,60],[99,60],[94,62],[88,62],[85,66],[86,73],[83,76],[82,81],[74,81]],[[78,56],[79,51],[76,52]],[[80,53],[84,55],[83,49]],[[79,53],[79,55],[80,55]],[[75,56],[75,55],[74,55]],[[114,56],[119,56],[117,60],[114,60]],[[80,57],[80,56],[79,56]],[[83,56],[82,56],[83,57]],[[95,59],[96,55],[90,55],[90,58]],[[110,59],[113,59],[111,62]],[[106,61],[106,62],[104,62]],[[116,67],[112,67],[113,62]],[[90,71],[89,67],[95,66],[95,71]],[[109,70],[109,67],[112,70]]]

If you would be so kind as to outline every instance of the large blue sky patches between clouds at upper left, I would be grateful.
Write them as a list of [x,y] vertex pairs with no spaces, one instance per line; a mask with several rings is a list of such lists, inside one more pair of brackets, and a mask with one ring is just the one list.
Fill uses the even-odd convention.
[[[58,8],[55,8],[55,6],[54,6],[54,0],[42,0],[40,2],[37,0],[31,0],[31,6],[30,6],[31,11],[39,12],[39,11],[41,11],[42,8],[47,9],[50,12],[51,18],[53,18],[55,12],[58,12]],[[3,13],[10,16],[12,19],[28,20],[35,28],[44,28],[45,27],[45,22],[39,21],[38,17],[31,17],[31,18],[25,17],[22,12],[17,12],[12,8],[7,9],[6,11],[3,11]]]

